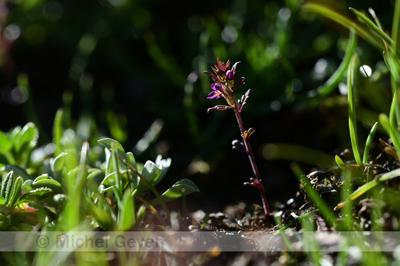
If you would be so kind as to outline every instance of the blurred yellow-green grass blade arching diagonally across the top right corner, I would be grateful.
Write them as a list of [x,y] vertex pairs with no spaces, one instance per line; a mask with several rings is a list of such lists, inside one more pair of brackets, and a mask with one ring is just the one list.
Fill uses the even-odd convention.
[[350,19],[348,18],[348,16],[345,16],[343,14],[340,14],[339,12],[332,10],[332,8],[326,5],[321,5],[319,3],[304,3],[303,10],[308,10],[310,12],[314,12],[316,14],[325,16],[327,19],[331,19],[332,21],[335,21],[336,23],[339,23],[340,25],[343,25],[348,29],[350,29],[350,27],[354,27],[355,32],[361,38],[368,41],[368,43],[370,43],[374,47],[379,48],[380,50],[386,49],[381,39],[372,34],[370,32],[370,29],[368,29],[366,25],[361,25],[357,21]]

